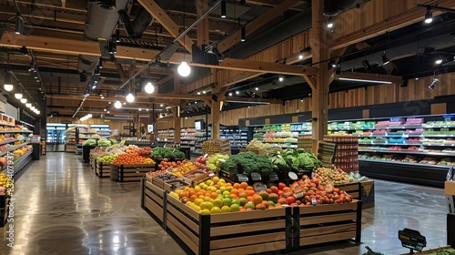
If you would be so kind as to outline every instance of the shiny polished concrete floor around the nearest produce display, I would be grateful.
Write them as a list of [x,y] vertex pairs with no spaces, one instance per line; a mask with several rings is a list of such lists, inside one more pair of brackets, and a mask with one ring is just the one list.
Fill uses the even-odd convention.
[[[0,254],[187,254],[140,208],[138,183],[99,179],[82,156],[48,153],[15,179],[14,248],[1,231]],[[446,243],[443,189],[377,180],[376,207],[363,210],[362,242],[291,254],[362,254],[365,246],[385,254],[408,252],[398,230],[420,230],[427,247]]]

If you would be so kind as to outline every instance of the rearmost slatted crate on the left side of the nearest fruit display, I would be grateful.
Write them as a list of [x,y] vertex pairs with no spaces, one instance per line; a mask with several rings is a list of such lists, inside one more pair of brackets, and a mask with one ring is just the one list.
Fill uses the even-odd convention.
[[163,224],[166,213],[166,191],[158,188],[146,179],[142,179],[141,187],[141,207]]

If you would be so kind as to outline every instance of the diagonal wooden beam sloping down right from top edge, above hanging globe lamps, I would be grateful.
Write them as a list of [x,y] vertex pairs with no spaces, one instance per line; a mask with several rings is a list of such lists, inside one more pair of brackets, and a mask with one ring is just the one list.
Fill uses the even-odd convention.
[[[152,15],[161,26],[166,28],[167,32],[174,36],[174,38],[177,38],[180,33],[180,29],[178,28],[177,24],[170,18],[166,12],[159,6],[155,1],[153,0],[137,0],[139,4],[141,4],[147,12]],[[187,26],[190,26],[188,24]],[[185,46],[187,51],[191,54],[193,52],[192,46],[193,46],[193,40],[187,35],[183,36],[179,41],[180,45]]]

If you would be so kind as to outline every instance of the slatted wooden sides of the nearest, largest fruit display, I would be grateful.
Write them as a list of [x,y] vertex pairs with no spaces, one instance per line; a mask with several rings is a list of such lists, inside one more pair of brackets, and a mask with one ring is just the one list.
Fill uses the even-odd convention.
[[251,254],[360,242],[361,201],[201,215],[143,179],[141,207],[194,254]]

